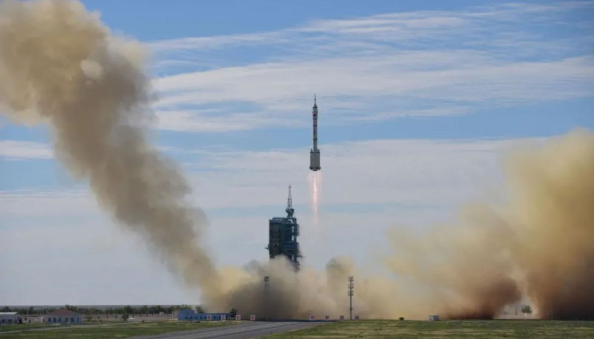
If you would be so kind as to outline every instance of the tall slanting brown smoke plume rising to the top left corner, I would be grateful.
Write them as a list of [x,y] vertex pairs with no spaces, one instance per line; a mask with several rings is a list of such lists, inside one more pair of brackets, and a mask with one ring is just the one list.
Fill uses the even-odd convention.
[[48,121],[56,157],[113,218],[189,283],[208,284],[216,273],[197,244],[203,216],[185,201],[176,164],[147,143],[143,59],[140,44],[113,37],[79,2],[0,3],[0,111]]

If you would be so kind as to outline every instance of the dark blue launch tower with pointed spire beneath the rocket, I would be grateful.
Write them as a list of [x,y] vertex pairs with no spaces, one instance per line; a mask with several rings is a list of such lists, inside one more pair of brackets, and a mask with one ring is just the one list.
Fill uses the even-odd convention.
[[299,270],[299,224],[295,218],[293,209],[293,198],[291,197],[291,187],[289,185],[289,197],[287,197],[286,217],[274,217],[268,220],[268,254],[270,258],[276,258],[284,255],[293,265],[295,270]]

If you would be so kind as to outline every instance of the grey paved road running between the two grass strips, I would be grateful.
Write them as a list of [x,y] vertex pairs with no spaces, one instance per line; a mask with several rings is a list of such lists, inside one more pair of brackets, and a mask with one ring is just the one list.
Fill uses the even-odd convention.
[[290,330],[301,330],[302,328],[308,328],[320,324],[323,324],[323,322],[256,321],[218,328],[202,328],[200,330],[163,333],[159,335],[150,335],[147,337],[134,337],[131,339],[248,339]]

